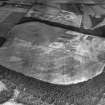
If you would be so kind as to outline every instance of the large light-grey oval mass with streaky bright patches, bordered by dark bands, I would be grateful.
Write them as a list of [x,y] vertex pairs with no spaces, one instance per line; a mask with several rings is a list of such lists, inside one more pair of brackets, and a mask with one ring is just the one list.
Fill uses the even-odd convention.
[[38,22],[15,26],[0,48],[0,64],[53,84],[76,84],[101,74],[105,40]]

